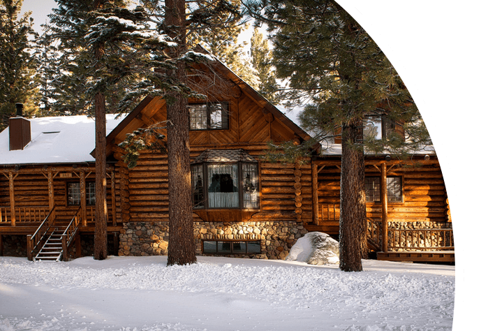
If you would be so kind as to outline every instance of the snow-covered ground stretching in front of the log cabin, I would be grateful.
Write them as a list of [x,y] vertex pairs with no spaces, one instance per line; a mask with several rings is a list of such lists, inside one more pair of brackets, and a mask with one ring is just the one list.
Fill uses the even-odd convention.
[[198,257],[0,257],[0,331],[451,330],[454,266]]

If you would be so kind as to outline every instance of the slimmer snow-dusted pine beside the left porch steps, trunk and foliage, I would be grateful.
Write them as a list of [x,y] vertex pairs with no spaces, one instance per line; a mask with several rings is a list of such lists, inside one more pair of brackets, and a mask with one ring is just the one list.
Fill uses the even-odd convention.
[[[58,91],[68,91],[54,105],[68,112],[90,112],[96,125],[96,231],[94,258],[107,257],[107,206],[105,178],[105,96],[112,109],[131,108],[154,91],[161,73],[161,55],[150,57],[168,47],[165,36],[150,31],[147,15],[141,8],[128,10],[123,0],[65,1],[51,16],[50,32],[45,38],[59,43],[62,50],[57,77]],[[156,52],[155,52],[156,51]],[[163,52],[162,52],[163,53]],[[162,80],[165,78],[163,77]],[[173,86],[173,85],[171,85]],[[128,91],[125,99],[117,96]],[[114,92],[114,93],[113,93]],[[73,98],[77,96],[77,98]],[[75,101],[72,103],[71,101]]]

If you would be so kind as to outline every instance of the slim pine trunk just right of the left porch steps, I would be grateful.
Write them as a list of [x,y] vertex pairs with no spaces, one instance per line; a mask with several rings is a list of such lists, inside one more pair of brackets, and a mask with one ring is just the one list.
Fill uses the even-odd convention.
[[[94,9],[103,8],[103,0],[94,1]],[[103,44],[94,47],[94,57],[100,61],[105,54]],[[106,175],[106,124],[105,95],[95,95],[95,238],[94,259],[105,260],[107,244],[107,175]]]

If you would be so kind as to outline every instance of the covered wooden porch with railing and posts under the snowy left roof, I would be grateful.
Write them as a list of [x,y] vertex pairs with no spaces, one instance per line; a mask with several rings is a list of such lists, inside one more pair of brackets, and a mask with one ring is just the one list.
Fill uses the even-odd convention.
[[[27,256],[33,259],[55,231],[66,237],[65,254],[71,245],[81,254],[80,235],[95,231],[94,165],[17,166],[1,170],[0,176],[0,255],[6,236],[25,235]],[[113,167],[107,168],[106,200],[108,234],[117,242],[122,226]]]

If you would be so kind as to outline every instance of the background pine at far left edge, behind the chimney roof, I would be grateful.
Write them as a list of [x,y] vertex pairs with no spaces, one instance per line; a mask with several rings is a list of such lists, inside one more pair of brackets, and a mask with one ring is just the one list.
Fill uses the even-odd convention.
[[15,103],[24,103],[27,113],[37,110],[34,20],[30,12],[19,17],[21,8],[22,0],[0,0],[0,130],[15,115]]

